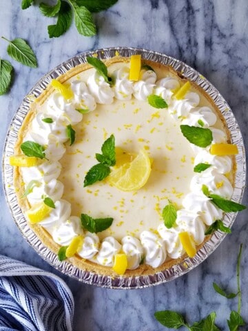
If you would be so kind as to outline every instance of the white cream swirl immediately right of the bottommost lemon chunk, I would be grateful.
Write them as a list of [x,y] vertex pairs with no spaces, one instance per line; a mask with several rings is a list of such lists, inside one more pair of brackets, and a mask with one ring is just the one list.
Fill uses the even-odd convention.
[[141,241],[132,236],[125,236],[121,239],[123,252],[127,255],[127,269],[138,268],[143,258],[143,247]]

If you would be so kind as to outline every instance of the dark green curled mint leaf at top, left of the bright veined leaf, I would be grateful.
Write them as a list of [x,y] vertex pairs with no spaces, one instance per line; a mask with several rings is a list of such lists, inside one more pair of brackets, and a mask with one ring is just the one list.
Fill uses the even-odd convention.
[[48,34],[50,38],[60,37],[64,34],[72,24],[72,8],[70,5],[61,1],[61,6],[59,9],[58,19],[55,25],[48,26]]

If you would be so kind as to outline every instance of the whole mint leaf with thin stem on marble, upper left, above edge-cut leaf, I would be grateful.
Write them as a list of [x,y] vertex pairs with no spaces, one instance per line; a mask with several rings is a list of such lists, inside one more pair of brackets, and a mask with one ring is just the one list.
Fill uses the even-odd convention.
[[8,41],[9,45],[7,52],[14,60],[22,63],[24,66],[37,68],[37,58],[28,43],[21,38],[14,39],[12,41],[2,37],[2,39]]

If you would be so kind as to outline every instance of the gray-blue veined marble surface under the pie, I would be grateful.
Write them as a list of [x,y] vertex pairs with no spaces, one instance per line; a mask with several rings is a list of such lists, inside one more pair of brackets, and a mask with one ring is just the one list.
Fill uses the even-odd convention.
[[[39,68],[14,62],[0,40],[0,57],[15,69],[10,92],[0,97],[0,152],[8,126],[21,100],[43,74],[85,50],[110,46],[133,46],[164,52],[185,61],[218,88],[231,106],[248,146],[248,2],[247,0],[119,0],[94,15],[99,32],[82,37],[72,26],[58,39],[49,39],[46,26],[54,19],[43,17],[39,8],[20,9],[21,1],[0,1],[0,31],[8,39],[28,40],[37,54]],[[75,300],[74,330],[166,330],[154,319],[156,310],[183,312],[189,321],[217,312],[221,330],[237,308],[214,292],[212,282],[236,290],[236,259],[242,256],[242,315],[248,322],[248,211],[240,212],[232,234],[207,261],[176,281],[141,290],[109,290],[79,283],[56,272],[25,242],[15,225],[0,188],[0,252],[59,274],[70,286]],[[248,204],[247,191],[243,203]],[[242,330],[247,330],[244,328]]]

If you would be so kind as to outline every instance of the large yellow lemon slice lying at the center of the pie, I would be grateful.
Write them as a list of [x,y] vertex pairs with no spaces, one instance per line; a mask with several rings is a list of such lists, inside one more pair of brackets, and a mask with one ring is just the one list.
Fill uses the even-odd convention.
[[121,191],[134,191],[145,185],[150,172],[151,161],[147,152],[141,150],[133,161],[114,167],[107,181]]

